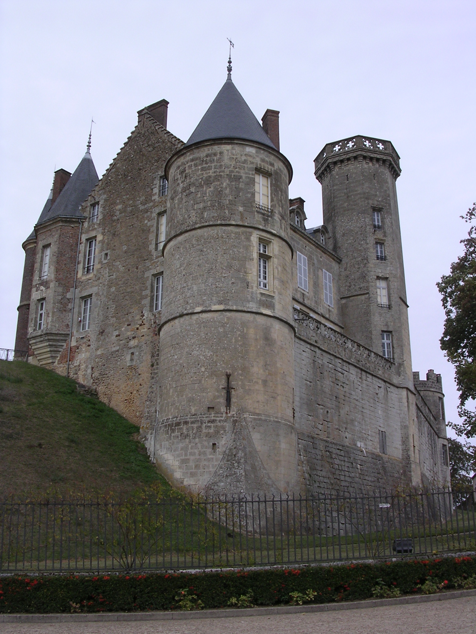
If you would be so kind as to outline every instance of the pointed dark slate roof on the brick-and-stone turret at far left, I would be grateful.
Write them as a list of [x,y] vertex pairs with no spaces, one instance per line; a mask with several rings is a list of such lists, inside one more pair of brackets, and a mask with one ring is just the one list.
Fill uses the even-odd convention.
[[98,174],[88,148],[88,151],[83,159],[81,159],[81,162],[70,176],[69,181],[65,184],[53,205],[51,205],[51,200],[48,199],[50,200],[50,206],[48,207],[48,200],[46,201],[46,205],[44,205],[43,211],[36,224],[43,224],[57,217],[83,217],[79,208],[84,200],[88,198],[98,181]]

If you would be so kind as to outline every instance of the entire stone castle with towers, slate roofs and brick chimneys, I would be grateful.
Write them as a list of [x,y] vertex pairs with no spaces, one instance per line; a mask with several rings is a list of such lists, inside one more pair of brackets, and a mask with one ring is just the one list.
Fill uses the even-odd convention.
[[441,377],[411,368],[390,141],[317,155],[324,224],[289,200],[279,112],[227,81],[183,143],[168,101],[102,179],[55,172],[23,243],[15,347],[140,425],[210,495],[449,484]]

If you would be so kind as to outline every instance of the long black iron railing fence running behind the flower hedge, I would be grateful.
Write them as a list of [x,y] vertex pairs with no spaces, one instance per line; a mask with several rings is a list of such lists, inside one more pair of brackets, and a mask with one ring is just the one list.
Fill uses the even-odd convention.
[[0,571],[306,564],[476,549],[472,490],[159,501],[5,501]]

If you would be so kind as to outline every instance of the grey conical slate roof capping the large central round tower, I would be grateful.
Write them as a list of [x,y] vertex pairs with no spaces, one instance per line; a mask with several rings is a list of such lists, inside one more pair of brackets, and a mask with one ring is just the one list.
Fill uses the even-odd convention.
[[251,112],[248,103],[235,87],[230,75],[185,145],[223,138],[258,141],[274,148],[258,119]]

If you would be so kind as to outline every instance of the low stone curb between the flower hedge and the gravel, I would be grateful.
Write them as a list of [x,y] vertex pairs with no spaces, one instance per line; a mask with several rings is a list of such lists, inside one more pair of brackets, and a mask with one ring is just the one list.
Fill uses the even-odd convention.
[[476,590],[452,590],[434,595],[367,599],[348,603],[319,605],[280,605],[240,609],[203,610],[200,612],[102,612],[101,614],[0,614],[0,623],[93,623],[101,621],[183,621],[184,619],[220,619],[232,616],[267,616],[268,614],[303,614],[355,610],[382,605],[406,605],[446,601],[451,598],[476,597]]

